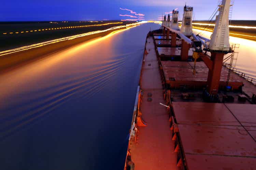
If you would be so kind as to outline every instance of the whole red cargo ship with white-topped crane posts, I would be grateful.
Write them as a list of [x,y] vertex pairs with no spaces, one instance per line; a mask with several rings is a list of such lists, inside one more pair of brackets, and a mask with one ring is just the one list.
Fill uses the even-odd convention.
[[[146,37],[124,169],[256,169],[256,85],[232,69],[230,0],[210,39],[193,7],[165,16]],[[231,4],[232,5],[232,4]]]

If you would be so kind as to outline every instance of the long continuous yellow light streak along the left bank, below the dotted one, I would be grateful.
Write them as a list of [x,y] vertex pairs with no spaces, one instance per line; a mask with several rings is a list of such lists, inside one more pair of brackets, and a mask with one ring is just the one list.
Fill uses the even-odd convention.
[[[141,22],[126,24],[126,25],[123,25],[123,26],[116,26],[116,27],[112,27],[112,28],[109,28],[109,29],[106,29],[106,30],[98,30],[98,31],[92,31],[92,32],[84,33],[84,34],[72,35],[72,36],[68,36],[68,37],[58,38],[58,39],[54,39],[54,40],[45,41],[45,42],[42,42],[42,43],[29,45],[29,46],[24,46],[24,47],[11,49],[11,50],[1,51],[0,56],[15,53],[15,52],[19,52],[19,51],[25,51],[25,50],[29,50],[29,49],[32,49],[32,48],[38,48],[38,47],[46,46],[46,45],[49,45],[49,44],[58,43],[58,42],[61,42],[61,41],[72,40],[72,39],[79,38],[79,37],[84,37],[84,36],[88,36],[88,35],[107,32],[107,31],[111,31],[111,30],[127,29],[127,28],[138,26],[139,24],[142,24],[142,23],[147,23],[147,21],[141,21]],[[116,31],[118,31],[118,30],[116,30]]]

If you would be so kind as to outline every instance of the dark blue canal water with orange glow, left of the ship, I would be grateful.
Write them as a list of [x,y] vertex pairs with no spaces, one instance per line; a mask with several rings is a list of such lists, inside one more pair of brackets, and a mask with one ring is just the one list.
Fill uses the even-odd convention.
[[0,75],[1,169],[122,169],[143,24]]

